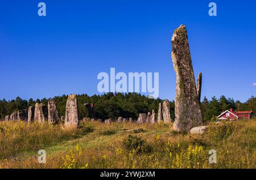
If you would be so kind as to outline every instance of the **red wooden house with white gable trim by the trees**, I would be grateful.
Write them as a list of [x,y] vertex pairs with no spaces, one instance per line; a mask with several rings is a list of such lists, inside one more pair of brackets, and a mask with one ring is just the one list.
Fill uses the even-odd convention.
[[225,112],[222,112],[220,115],[218,115],[218,119],[230,119],[230,120],[237,120],[240,118],[251,118],[253,112],[250,110],[248,111],[238,111],[233,112],[233,109],[226,110]]

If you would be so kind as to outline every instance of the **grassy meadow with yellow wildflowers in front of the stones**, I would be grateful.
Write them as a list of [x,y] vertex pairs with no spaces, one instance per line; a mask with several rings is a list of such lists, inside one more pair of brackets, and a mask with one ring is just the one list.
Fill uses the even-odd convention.
[[[81,122],[77,130],[0,122],[0,168],[256,168],[256,121],[209,123],[203,135],[172,123]],[[39,149],[46,164],[38,163]],[[217,151],[217,163],[208,161]]]

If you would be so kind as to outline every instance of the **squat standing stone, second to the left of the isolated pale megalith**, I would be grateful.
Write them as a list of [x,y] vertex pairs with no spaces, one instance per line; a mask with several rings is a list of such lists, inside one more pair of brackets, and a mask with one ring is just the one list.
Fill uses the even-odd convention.
[[37,121],[39,124],[42,124],[47,121],[47,106],[43,103],[36,103],[35,104],[35,115],[34,121]]

